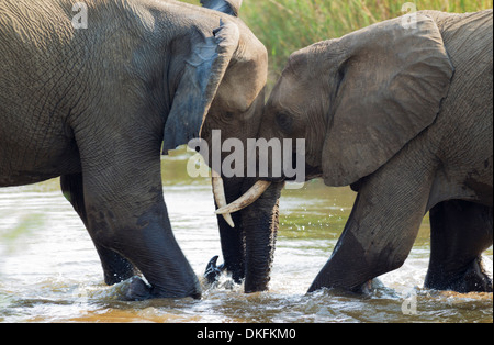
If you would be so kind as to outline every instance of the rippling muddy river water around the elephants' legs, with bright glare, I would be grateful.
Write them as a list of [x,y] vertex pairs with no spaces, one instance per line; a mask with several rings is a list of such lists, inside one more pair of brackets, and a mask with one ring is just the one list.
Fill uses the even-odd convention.
[[[221,254],[206,179],[164,160],[164,193],[177,240],[198,276]],[[355,193],[312,181],[284,190],[269,292],[244,294],[223,277],[201,300],[119,301],[91,240],[58,181],[0,189],[0,322],[493,322],[493,294],[422,289],[429,256],[427,219],[405,265],[381,277],[372,297],[306,294],[348,219]],[[188,210],[194,210],[190,214]],[[485,253],[491,260],[492,247]]]

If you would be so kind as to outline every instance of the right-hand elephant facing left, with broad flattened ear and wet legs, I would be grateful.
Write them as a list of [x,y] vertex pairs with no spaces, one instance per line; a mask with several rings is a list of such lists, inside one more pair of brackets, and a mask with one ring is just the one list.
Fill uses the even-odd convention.
[[427,211],[425,286],[492,291],[492,10],[416,15],[294,53],[267,103],[260,136],[305,137],[308,178],[358,191],[310,291],[402,266]]

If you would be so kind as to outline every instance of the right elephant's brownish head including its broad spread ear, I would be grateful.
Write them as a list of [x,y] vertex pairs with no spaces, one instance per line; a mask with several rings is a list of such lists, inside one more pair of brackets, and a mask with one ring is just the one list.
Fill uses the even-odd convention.
[[290,56],[260,136],[305,138],[307,178],[348,186],[374,172],[436,119],[453,68],[436,23],[416,14]]

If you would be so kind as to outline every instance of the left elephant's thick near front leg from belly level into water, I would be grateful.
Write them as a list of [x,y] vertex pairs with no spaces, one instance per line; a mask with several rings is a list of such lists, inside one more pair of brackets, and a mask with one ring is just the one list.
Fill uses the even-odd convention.
[[160,142],[138,134],[126,136],[127,142],[81,141],[88,230],[94,242],[128,259],[149,282],[148,289],[131,285],[128,298],[199,297],[198,278],[168,219]]

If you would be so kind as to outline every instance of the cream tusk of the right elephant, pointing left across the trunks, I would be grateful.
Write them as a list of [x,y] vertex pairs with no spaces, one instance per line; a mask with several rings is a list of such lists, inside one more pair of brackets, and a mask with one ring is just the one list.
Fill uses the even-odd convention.
[[[311,179],[321,177],[322,170],[319,167],[312,167],[305,165],[305,181]],[[296,177],[279,177],[279,178],[263,178],[258,180],[249,190],[247,190],[240,198],[235,200],[234,202],[226,204],[223,202],[222,205],[218,203],[218,209],[216,210],[216,214],[223,214],[223,216],[231,216],[231,213],[240,211],[251,203],[254,203],[257,199],[259,199],[262,193],[271,186],[273,182],[283,182],[283,181],[295,181]],[[217,202],[217,201],[216,201]],[[226,218],[225,218],[226,220]]]

